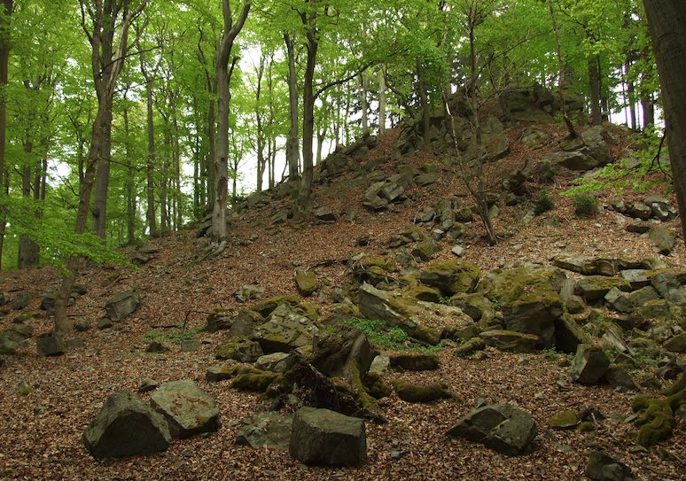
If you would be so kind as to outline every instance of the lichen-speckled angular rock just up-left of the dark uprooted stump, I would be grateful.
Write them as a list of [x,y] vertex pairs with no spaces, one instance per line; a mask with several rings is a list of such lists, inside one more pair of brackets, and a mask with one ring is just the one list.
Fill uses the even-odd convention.
[[253,339],[260,343],[264,353],[282,353],[312,345],[318,333],[315,322],[281,305],[269,314],[268,322],[253,331]]

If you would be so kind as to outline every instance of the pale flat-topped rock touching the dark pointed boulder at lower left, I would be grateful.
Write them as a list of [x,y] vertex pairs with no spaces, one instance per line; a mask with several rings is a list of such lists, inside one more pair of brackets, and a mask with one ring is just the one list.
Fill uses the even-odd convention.
[[160,384],[150,400],[167,419],[172,438],[190,438],[219,429],[219,409],[214,399],[191,379]]

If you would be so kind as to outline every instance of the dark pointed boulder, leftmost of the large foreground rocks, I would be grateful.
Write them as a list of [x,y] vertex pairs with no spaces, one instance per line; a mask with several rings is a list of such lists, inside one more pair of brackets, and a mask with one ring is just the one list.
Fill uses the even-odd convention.
[[115,392],[83,431],[83,444],[95,458],[160,453],[171,436],[164,418],[130,392]]

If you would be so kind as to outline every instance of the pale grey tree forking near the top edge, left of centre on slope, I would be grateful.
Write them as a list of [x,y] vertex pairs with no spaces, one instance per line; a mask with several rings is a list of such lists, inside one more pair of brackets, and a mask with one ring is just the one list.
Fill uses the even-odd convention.
[[[233,22],[230,0],[222,0],[224,29],[222,41],[219,43],[216,58],[217,78],[217,112],[219,116],[217,128],[217,157],[214,160],[216,178],[214,179],[214,209],[212,212],[212,240],[217,246],[226,242],[226,209],[229,194],[229,108],[230,108],[230,79],[238,57],[231,58],[231,50],[236,37],[246,23],[250,12],[251,1],[243,5],[236,23]],[[229,67],[229,61],[231,66]],[[221,248],[221,247],[220,247]]]

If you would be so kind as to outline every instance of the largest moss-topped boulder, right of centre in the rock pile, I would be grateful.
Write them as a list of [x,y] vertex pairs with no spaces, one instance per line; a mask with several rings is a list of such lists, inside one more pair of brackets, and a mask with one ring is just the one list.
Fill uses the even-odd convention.
[[546,269],[514,268],[491,275],[484,293],[500,306],[506,330],[539,337],[537,347],[556,344],[555,323],[564,308]]

